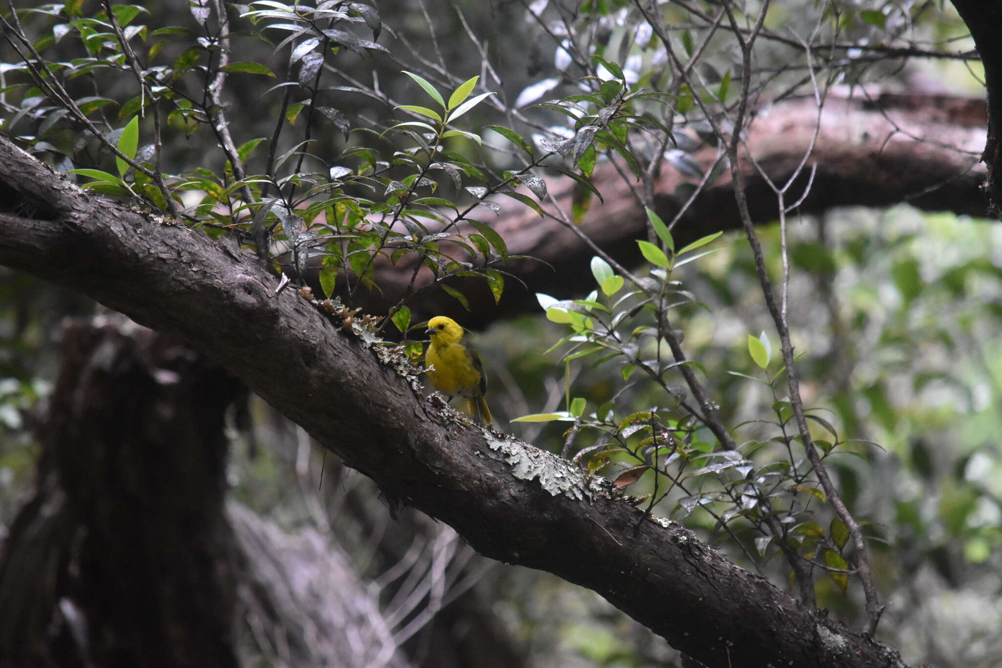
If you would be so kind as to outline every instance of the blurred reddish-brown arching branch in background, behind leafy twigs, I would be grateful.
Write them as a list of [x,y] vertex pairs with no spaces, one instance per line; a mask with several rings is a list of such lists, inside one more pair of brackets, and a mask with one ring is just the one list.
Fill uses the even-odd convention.
[[[748,129],[745,145],[775,183],[784,183],[794,173],[811,139],[817,119],[814,98],[792,99],[760,110]],[[822,113],[821,132],[814,153],[788,201],[797,201],[804,192],[810,167],[817,165],[814,183],[798,209],[821,213],[840,206],[892,206],[907,202],[930,211],[953,211],[972,216],[988,215],[987,202],[979,191],[985,180],[978,156],[985,141],[983,100],[925,94],[886,94],[868,98],[859,89],[852,99],[830,96]],[[705,169],[716,157],[715,149],[694,153]],[[763,224],[778,218],[777,199],[772,188],[750,163],[741,165],[747,182],[747,201],[753,219]],[[541,175],[545,170],[539,170]],[[546,177],[564,210],[569,211],[574,183],[564,177]],[[683,181],[665,164],[656,187],[658,213],[671,219],[682,201],[672,193]],[[581,222],[584,231],[600,247],[627,266],[641,261],[634,239],[646,238],[646,217],[627,185],[608,163],[599,163],[594,183],[605,203],[593,198]],[[445,291],[432,287],[409,303],[422,316],[444,313],[468,326],[519,312],[539,309],[534,293],[547,292],[559,298],[581,295],[590,281],[588,262],[594,254],[573,232],[553,218],[540,218],[516,203],[505,204],[500,218],[486,208],[480,219],[490,223],[504,237],[511,254],[525,254],[544,260],[518,260],[508,267],[527,285],[509,280],[501,302],[494,298],[481,278],[460,278],[450,282],[470,299],[467,312]],[[546,205],[544,204],[544,209]],[[737,215],[727,170],[705,190],[679,220],[674,229],[678,243],[684,244],[716,230],[738,229]],[[382,291],[370,291],[360,305],[371,312],[385,312],[397,303],[411,280],[414,266],[407,259],[397,266],[381,266],[376,282]],[[422,269],[418,285],[432,280]]]

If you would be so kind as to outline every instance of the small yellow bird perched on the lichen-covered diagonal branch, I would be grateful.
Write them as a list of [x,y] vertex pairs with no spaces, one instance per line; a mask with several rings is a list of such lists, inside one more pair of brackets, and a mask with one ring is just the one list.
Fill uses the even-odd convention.
[[487,408],[487,374],[480,358],[463,341],[464,329],[456,320],[437,315],[428,320],[425,333],[432,343],[425,355],[425,364],[435,369],[428,372],[428,380],[435,389],[449,397],[466,398],[467,413],[490,425],[491,411]]

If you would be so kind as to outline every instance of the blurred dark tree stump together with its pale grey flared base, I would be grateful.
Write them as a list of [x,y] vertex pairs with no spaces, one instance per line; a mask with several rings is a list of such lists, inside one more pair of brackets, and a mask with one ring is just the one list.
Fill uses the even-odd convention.
[[61,346],[0,551],[0,666],[411,668],[336,546],[223,503],[235,378],[117,314]]

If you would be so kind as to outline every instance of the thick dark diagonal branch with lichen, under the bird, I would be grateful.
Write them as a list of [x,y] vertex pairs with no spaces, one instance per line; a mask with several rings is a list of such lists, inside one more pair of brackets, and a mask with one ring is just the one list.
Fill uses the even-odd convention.
[[589,587],[712,668],[903,665],[678,525],[638,523],[609,486],[456,422],[357,336],[276,295],[246,251],[91,197],[6,139],[0,181],[0,263],[185,339],[482,554]]

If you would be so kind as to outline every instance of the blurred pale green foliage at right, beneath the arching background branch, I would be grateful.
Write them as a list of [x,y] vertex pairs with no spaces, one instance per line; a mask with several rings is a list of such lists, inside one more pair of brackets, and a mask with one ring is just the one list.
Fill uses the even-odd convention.
[[[770,266],[780,267],[778,227],[762,235],[771,249]],[[724,422],[736,425],[770,413],[768,388],[726,372],[761,377],[746,340],[768,332],[771,323],[746,240],[736,234],[724,240],[721,251],[680,269],[711,310],[693,310],[678,318],[678,326],[691,358],[706,368]],[[800,368],[810,379],[802,386],[805,404],[824,409],[820,415],[843,438],[880,444],[852,444],[862,457],[843,454],[830,466],[844,499],[857,517],[874,523],[868,534],[879,539],[871,549],[888,599],[881,635],[901,647],[907,660],[994,665],[1002,646],[992,629],[1002,621],[1002,608],[984,593],[997,593],[1002,585],[1002,457],[996,438],[1002,427],[1002,230],[994,221],[908,206],[849,208],[798,221],[788,241],[799,269],[790,285],[791,326],[803,356]],[[498,416],[512,409],[522,414],[524,407],[561,407],[563,379],[552,371],[558,354],[540,353],[562,329],[542,315],[525,316],[481,338],[488,368],[506,368],[513,377],[494,385]],[[571,366],[575,396],[589,402],[607,401],[621,385],[616,369]],[[655,404],[657,390],[646,390],[647,397],[638,389],[628,403]],[[511,431],[559,452],[566,428],[513,424]],[[735,430],[738,442],[750,436],[749,429]],[[816,431],[825,438],[823,429]],[[643,486],[641,481],[628,489],[650,491],[649,482]],[[672,505],[664,502],[655,512],[669,516]],[[819,511],[816,521],[827,526],[832,516]],[[686,520],[693,523],[716,543],[726,542],[708,515],[695,511]],[[723,549],[753,568],[740,552]],[[780,561],[770,566],[782,571]],[[851,587],[843,596],[827,579],[818,587],[822,607],[861,614],[860,592]]]

